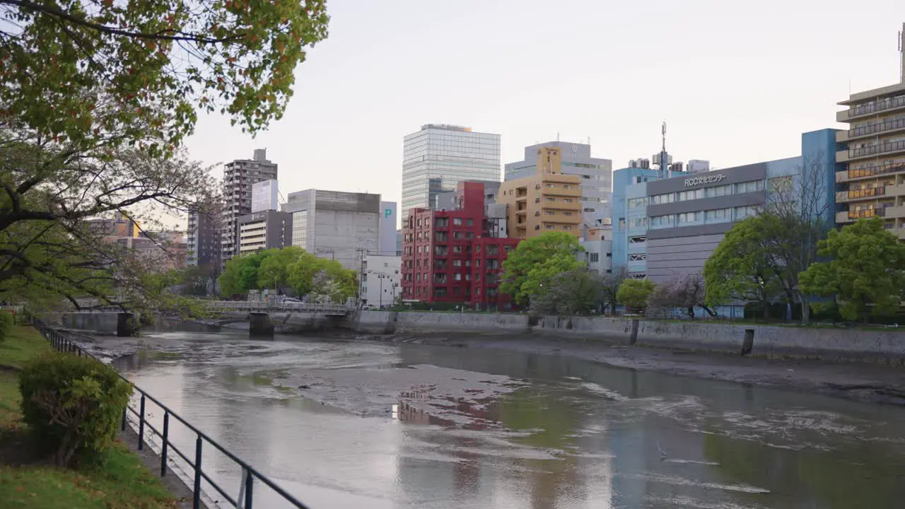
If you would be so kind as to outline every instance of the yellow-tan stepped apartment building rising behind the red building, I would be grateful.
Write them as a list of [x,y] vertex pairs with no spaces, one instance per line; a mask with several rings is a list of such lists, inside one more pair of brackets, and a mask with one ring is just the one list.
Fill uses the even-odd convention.
[[545,232],[581,235],[581,177],[562,173],[562,152],[540,147],[537,174],[500,184],[497,203],[506,204],[510,236],[531,238]]

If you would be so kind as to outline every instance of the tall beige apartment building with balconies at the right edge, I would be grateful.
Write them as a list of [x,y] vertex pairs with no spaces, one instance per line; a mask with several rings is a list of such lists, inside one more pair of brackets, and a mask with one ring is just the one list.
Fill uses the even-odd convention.
[[[902,30],[905,46],[905,24]],[[881,216],[905,239],[905,53],[900,82],[853,93],[839,104],[836,120],[849,124],[836,133],[836,225]]]

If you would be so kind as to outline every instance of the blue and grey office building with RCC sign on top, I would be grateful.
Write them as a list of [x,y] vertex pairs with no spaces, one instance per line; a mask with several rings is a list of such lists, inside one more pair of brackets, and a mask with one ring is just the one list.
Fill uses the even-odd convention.
[[[627,265],[633,277],[654,283],[700,273],[726,232],[759,214],[782,194],[817,187],[814,208],[828,224],[835,213],[836,130],[802,134],[801,155],[735,168],[657,179],[658,172],[614,172],[613,268]],[[646,182],[645,182],[646,179]],[[618,211],[618,212],[617,212]],[[743,305],[720,314],[740,316]]]

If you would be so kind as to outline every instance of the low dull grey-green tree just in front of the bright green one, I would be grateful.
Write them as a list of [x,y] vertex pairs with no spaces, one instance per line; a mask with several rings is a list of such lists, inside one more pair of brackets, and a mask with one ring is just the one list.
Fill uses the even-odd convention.
[[536,314],[588,314],[601,302],[603,280],[600,274],[576,268],[553,276],[546,292],[531,299]]

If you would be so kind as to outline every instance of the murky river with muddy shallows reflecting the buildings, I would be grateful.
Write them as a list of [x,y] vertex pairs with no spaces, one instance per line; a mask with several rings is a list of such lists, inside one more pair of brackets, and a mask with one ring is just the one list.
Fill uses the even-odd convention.
[[312,509],[905,504],[899,407],[525,352],[154,336],[119,370]]

